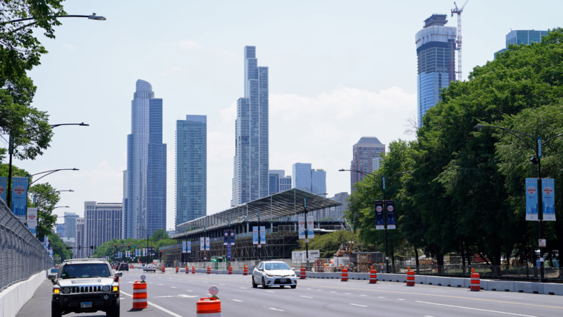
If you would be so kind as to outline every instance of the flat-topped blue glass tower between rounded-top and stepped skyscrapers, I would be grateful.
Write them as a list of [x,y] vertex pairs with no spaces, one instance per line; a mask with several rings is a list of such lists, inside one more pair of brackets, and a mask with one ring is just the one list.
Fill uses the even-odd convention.
[[207,117],[176,121],[176,226],[207,214]]

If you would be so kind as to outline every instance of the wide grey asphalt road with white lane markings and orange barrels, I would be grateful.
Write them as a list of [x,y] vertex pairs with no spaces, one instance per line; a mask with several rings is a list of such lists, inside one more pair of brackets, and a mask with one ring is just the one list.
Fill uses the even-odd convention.
[[[134,281],[144,272],[132,269],[121,278],[122,316],[196,316],[196,301],[209,297],[209,287],[219,288],[223,316],[560,316],[563,298],[528,293],[471,292],[466,288],[336,279],[299,280],[297,288],[252,288],[250,276],[204,273],[144,273],[151,311],[132,308]],[[48,287],[45,287],[48,286]],[[19,317],[50,310],[51,283],[46,281]],[[46,298],[41,300],[41,297]],[[29,306],[29,307],[28,307]],[[33,309],[35,308],[35,309]],[[105,316],[100,313],[66,316]]]

